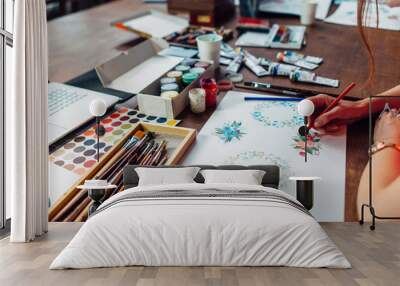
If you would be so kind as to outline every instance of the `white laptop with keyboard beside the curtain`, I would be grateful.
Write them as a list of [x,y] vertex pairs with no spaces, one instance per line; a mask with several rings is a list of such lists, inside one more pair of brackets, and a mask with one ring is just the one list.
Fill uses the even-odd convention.
[[93,116],[89,104],[101,98],[107,108],[116,104],[120,98],[63,83],[51,82],[48,85],[48,143],[52,144],[68,133],[87,123]]

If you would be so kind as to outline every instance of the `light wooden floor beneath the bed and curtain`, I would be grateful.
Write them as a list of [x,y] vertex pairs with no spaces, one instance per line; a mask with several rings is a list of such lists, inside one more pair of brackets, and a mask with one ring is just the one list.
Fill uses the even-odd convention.
[[0,241],[0,285],[400,285],[400,223],[385,222],[371,232],[356,223],[322,224],[353,265],[349,270],[285,267],[125,267],[48,270],[80,228],[51,223],[30,244]]

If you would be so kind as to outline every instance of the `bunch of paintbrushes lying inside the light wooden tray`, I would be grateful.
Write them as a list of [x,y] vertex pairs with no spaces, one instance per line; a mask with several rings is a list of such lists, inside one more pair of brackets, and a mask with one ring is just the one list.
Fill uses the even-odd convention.
[[[127,165],[159,166],[167,161],[167,142],[157,143],[151,132],[137,131],[113,156],[96,172],[94,178],[107,180],[116,185],[112,192],[107,193],[103,200],[124,190],[123,169]],[[57,212],[50,217],[51,221],[85,221],[91,199],[86,191],[77,191],[75,196]]]

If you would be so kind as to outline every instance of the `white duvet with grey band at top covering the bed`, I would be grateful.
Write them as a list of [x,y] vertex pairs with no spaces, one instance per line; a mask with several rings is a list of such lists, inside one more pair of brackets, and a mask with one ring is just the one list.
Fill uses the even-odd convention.
[[135,187],[113,196],[50,269],[128,265],[351,267],[286,193],[198,183]]

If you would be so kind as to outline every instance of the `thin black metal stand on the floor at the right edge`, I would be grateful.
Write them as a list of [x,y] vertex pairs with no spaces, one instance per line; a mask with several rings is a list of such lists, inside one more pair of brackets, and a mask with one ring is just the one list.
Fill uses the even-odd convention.
[[388,95],[380,95],[380,96],[370,96],[369,97],[369,134],[368,134],[368,140],[369,140],[369,150],[368,150],[368,158],[369,158],[369,190],[368,190],[368,203],[364,203],[361,205],[361,219],[360,219],[360,224],[364,224],[364,210],[365,208],[369,208],[369,211],[372,216],[372,224],[369,226],[371,230],[375,230],[375,220],[376,219],[382,219],[382,220],[399,220],[400,217],[382,217],[376,214],[375,208],[374,208],[374,202],[373,202],[373,197],[372,197],[372,145],[373,145],[373,118],[372,118],[372,101],[374,98],[396,98],[400,99],[398,96],[388,96]]

